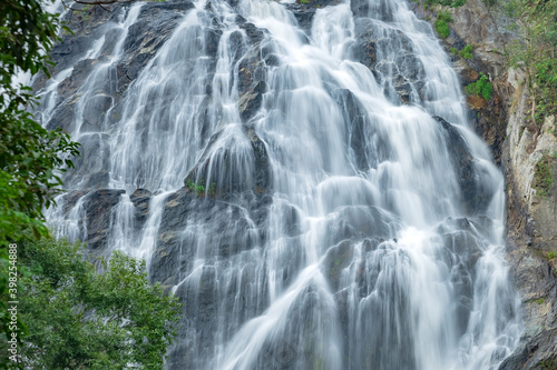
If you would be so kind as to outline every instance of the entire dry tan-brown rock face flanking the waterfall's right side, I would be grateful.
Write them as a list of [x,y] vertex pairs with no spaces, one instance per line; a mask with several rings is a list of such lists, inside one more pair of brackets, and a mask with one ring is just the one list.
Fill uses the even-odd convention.
[[[462,87],[478,80],[479,72],[494,86],[489,101],[469,97],[467,102],[476,131],[505,171],[508,263],[522,301],[525,332],[520,346],[499,369],[553,369],[557,364],[557,264],[547,253],[557,251],[555,117],[547,118],[541,128],[532,123],[525,74],[506,68],[502,53],[517,34],[501,11],[487,8],[480,0],[468,0],[456,9],[426,10],[422,2],[412,3],[412,10],[431,24],[441,9],[450,11],[453,19],[444,40],[448,51],[473,47],[471,60],[453,58]],[[536,189],[536,166],[544,158],[554,181],[541,194]]]

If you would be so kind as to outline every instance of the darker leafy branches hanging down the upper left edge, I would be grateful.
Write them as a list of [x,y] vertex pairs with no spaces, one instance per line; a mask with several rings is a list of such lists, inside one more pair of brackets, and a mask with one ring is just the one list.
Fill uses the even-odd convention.
[[[9,319],[8,244],[19,242],[25,230],[47,236],[42,209],[60,191],[61,166],[71,167],[78,144],[67,133],[49,131],[27,109],[36,103],[31,89],[16,86],[17,73],[48,76],[48,51],[60,26],[38,0],[0,0],[0,340]],[[21,272],[21,271],[19,271]],[[19,322],[20,336],[26,332]],[[0,367],[6,364],[0,357]]]

